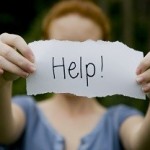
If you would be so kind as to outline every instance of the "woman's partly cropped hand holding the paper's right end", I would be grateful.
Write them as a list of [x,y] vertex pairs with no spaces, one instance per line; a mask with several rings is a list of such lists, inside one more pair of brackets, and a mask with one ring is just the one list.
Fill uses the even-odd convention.
[[150,52],[143,58],[136,70],[137,82],[150,98]]

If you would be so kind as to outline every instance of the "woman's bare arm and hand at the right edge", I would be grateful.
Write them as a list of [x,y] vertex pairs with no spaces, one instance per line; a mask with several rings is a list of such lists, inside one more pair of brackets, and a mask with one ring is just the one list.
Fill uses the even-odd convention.
[[[137,68],[137,82],[149,96],[150,93],[150,53]],[[129,117],[121,126],[120,135],[127,150],[150,149],[150,105],[145,117]]]

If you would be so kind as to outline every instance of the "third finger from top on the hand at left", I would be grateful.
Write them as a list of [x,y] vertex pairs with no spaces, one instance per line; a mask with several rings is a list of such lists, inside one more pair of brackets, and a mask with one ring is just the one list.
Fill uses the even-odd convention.
[[11,62],[9,62],[8,60],[6,60],[4,57],[1,56],[0,56],[0,68],[23,78],[26,78],[29,75],[28,72],[25,72],[24,70],[20,69],[18,66],[12,64]]

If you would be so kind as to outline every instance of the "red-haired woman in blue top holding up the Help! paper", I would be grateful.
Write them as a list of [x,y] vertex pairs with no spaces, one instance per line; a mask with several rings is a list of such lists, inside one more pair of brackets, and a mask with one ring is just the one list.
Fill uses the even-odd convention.
[[[109,25],[99,7],[88,1],[56,4],[44,19],[45,39],[108,40]],[[19,51],[16,51],[16,49]],[[22,55],[21,55],[21,54]],[[137,68],[137,82],[150,92],[150,56]],[[55,94],[35,103],[11,96],[12,82],[36,70],[34,56],[18,35],[0,36],[0,143],[2,149],[128,150],[149,149],[150,112],[124,105],[108,110],[95,98]]]

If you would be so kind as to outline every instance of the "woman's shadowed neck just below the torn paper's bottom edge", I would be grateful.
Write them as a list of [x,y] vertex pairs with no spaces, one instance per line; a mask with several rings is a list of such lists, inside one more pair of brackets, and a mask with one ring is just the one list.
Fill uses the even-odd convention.
[[92,113],[103,108],[95,98],[79,97],[72,94],[56,94],[53,97],[53,106],[56,106],[59,112],[72,116]]

